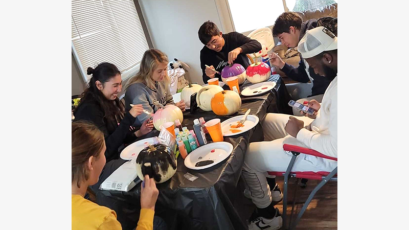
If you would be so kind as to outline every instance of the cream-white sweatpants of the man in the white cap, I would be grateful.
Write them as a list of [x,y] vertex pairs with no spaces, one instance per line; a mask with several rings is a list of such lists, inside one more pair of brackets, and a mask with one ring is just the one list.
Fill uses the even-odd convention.
[[[271,203],[271,192],[265,173],[285,172],[292,154],[283,149],[283,144],[308,148],[296,138],[288,135],[284,127],[290,115],[268,113],[263,121],[264,142],[250,143],[244,158],[242,174],[246,188],[251,192],[252,201],[260,209]],[[307,126],[312,122],[308,117],[299,117]],[[331,172],[337,166],[334,160],[300,154],[291,171]]]

